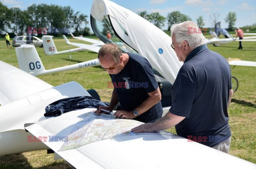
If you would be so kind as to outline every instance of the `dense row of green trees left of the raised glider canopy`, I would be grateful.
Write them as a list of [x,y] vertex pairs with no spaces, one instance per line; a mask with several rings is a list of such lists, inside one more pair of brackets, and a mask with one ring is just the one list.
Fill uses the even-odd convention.
[[[87,15],[75,12],[70,6],[33,4],[26,10],[18,7],[9,9],[0,2],[0,33],[12,30],[18,35],[27,32],[28,28],[74,28],[74,35],[89,35],[90,28]],[[82,28],[82,25],[85,25]],[[51,34],[51,33],[48,33]]]

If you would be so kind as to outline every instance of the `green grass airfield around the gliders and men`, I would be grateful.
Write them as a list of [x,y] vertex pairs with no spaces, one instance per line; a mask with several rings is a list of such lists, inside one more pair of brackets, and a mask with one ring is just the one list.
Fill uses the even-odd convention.
[[[55,39],[59,51],[68,49],[63,39]],[[70,39],[76,43],[81,40]],[[220,53],[225,58],[241,58],[241,60],[256,62],[256,42],[243,42],[243,50],[238,50],[238,42],[232,42],[219,47],[208,47]],[[71,47],[70,48],[74,48]],[[97,54],[89,50],[69,54],[47,56],[43,48],[36,48],[45,69],[75,64],[97,58]],[[0,60],[18,67],[15,49],[7,49],[5,41],[0,40]],[[256,163],[256,67],[231,66],[232,75],[239,81],[238,90],[234,93],[228,109],[232,141],[230,154]],[[58,86],[69,81],[77,81],[85,89],[95,89],[103,101],[109,102],[111,89],[107,88],[110,81],[107,72],[100,67],[86,67],[59,73],[39,75],[38,78]],[[4,83],[4,82],[1,82]],[[1,124],[0,124],[1,125]],[[175,133],[174,129],[169,131]],[[53,154],[46,150],[0,156],[0,168],[73,168],[65,160],[54,160]]]

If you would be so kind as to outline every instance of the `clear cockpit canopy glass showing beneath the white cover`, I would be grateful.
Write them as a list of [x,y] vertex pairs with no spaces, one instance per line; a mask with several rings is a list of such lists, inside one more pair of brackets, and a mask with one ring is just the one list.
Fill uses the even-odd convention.
[[[113,26],[113,22],[115,27]],[[115,43],[123,50],[123,52],[138,54],[136,50],[127,45],[127,43],[117,34],[116,29],[118,29],[118,32],[128,36],[127,32],[115,19],[111,19],[110,21],[109,16],[105,15],[103,20],[100,22],[91,16],[91,26],[95,35],[103,41],[103,43]]]

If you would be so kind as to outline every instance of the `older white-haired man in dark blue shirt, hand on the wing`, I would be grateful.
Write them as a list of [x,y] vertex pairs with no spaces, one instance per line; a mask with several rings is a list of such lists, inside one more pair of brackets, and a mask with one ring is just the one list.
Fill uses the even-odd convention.
[[184,62],[173,83],[172,106],[162,119],[131,131],[156,132],[175,126],[179,136],[228,153],[231,131],[227,109],[233,95],[230,66],[207,48],[196,23],[173,24],[171,34],[171,47]]

